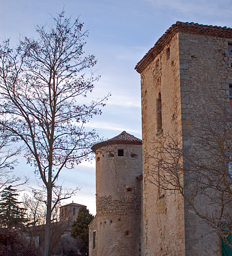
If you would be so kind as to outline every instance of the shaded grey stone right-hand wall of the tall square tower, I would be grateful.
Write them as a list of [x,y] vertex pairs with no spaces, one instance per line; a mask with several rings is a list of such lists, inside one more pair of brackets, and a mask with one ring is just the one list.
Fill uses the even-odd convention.
[[[185,144],[191,140],[190,132],[194,120],[199,115],[205,115],[205,107],[211,106],[211,111],[216,111],[217,106],[212,102],[213,98],[219,98],[220,104],[224,103],[226,107],[230,104],[232,55],[228,52],[228,41],[232,43],[232,39],[179,33],[181,121]],[[200,201],[197,207],[204,210],[206,205],[202,205]],[[209,253],[221,255],[219,234],[211,233],[208,225],[202,221],[200,223],[187,204],[185,229],[187,255],[197,255],[199,252],[202,256]]]

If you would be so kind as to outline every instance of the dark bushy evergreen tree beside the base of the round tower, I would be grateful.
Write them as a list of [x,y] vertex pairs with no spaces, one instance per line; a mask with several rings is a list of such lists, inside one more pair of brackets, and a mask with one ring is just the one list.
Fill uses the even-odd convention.
[[73,237],[81,237],[83,241],[83,246],[81,248],[82,254],[89,255],[89,224],[93,220],[93,215],[90,214],[89,210],[85,207],[81,207],[77,220],[72,224],[71,236]]

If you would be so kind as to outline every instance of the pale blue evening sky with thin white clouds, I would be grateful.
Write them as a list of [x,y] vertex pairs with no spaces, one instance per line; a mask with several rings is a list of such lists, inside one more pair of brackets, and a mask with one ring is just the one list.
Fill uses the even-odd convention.
[[[85,53],[96,56],[92,71],[101,75],[88,98],[111,93],[103,114],[93,118],[86,129],[96,129],[105,139],[122,131],[142,138],[140,75],[135,65],[176,21],[232,27],[231,5],[232,0],[1,0],[0,41],[10,38],[15,46],[20,35],[36,38],[35,25],[49,24],[51,15],[63,8],[65,16],[79,17],[89,31]],[[36,187],[40,180],[33,168],[23,155],[18,159],[14,171],[30,177],[30,185]],[[63,204],[74,201],[96,213],[94,161],[65,170],[58,182],[80,188]]]

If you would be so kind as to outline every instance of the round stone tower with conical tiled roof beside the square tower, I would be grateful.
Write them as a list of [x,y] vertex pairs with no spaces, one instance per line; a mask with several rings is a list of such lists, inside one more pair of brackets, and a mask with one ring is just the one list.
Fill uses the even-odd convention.
[[123,131],[95,144],[97,214],[90,256],[140,256],[142,140]]

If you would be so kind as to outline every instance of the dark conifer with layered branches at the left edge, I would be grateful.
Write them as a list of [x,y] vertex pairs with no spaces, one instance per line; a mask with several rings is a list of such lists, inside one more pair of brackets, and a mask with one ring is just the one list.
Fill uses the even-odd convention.
[[16,189],[9,186],[0,192],[0,223],[6,228],[20,228],[26,223],[25,208],[20,207]]

